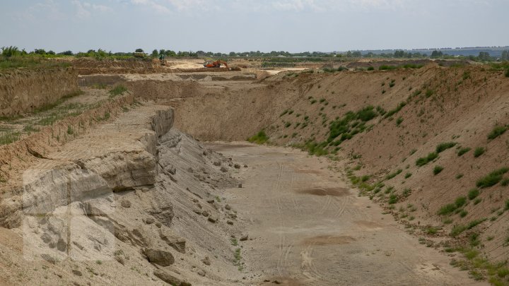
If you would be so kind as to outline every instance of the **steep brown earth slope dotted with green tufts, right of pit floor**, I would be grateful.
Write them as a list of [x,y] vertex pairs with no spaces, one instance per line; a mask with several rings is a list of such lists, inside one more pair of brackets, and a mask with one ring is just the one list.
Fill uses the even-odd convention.
[[[449,251],[465,246],[492,261],[509,258],[507,175],[490,177],[496,179],[494,186],[478,183],[508,167],[509,132],[503,131],[509,124],[509,80],[501,71],[426,66],[288,73],[262,83],[266,86],[246,87],[242,93],[226,90],[178,100],[176,125],[204,140],[245,140],[264,129],[270,143],[332,153],[332,160],[349,162],[338,172],[346,171],[345,177],[363,194],[382,203],[428,244]],[[361,119],[366,113],[359,111],[367,107],[373,116]],[[327,141],[344,122],[343,135]],[[496,126],[500,136],[490,136]],[[416,164],[440,143],[452,143],[452,148],[440,150],[426,165]],[[459,153],[464,148],[471,149]],[[476,148],[485,152],[475,157]],[[443,170],[434,174],[437,166],[435,172]],[[479,259],[472,259],[472,275],[479,269],[493,274],[493,267]],[[495,279],[505,281],[501,271]]]

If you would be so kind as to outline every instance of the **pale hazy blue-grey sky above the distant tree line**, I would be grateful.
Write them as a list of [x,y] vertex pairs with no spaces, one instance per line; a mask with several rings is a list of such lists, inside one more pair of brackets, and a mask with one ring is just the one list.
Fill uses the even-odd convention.
[[509,45],[509,0],[1,0],[0,47],[346,51]]

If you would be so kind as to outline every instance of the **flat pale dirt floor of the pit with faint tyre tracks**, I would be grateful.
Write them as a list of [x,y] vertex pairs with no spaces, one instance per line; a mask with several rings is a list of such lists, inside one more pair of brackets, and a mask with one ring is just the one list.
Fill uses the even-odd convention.
[[[244,143],[209,147],[245,162],[228,203],[249,221],[240,242],[252,285],[476,285],[450,258],[419,244],[390,215],[298,150]],[[252,240],[251,240],[252,239]],[[252,279],[252,280],[250,280]],[[267,285],[270,283],[267,282]],[[484,285],[484,284],[479,284]]]

